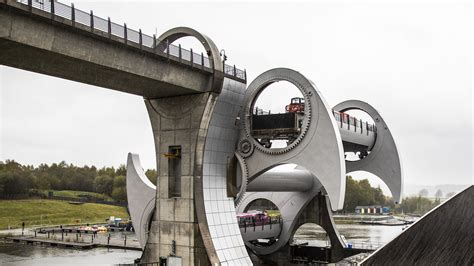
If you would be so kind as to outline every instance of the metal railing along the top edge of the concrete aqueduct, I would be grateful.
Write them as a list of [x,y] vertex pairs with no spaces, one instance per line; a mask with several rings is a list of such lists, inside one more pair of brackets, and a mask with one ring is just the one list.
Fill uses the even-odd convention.
[[[143,34],[141,30],[133,30],[127,28],[127,24],[119,25],[108,19],[103,19],[101,17],[95,16],[93,11],[84,12],[82,10],[76,9],[74,4],[71,6],[65,5],[63,3],[57,2],[55,0],[17,0],[18,3],[27,5],[31,10],[32,8],[45,11],[51,14],[51,18],[54,18],[54,15],[62,17],[68,20],[71,20],[72,25],[80,24],[85,27],[89,27],[91,32],[94,30],[101,31],[109,35],[109,37],[115,36],[118,38],[124,39],[125,43],[134,43],[138,44],[141,47],[148,47],[156,51],[156,35],[150,36]],[[198,54],[191,50],[186,50],[181,48],[181,45],[173,45],[167,43],[167,48],[162,53],[162,55],[167,56],[170,59],[177,60],[182,63],[189,63],[189,65],[196,68],[210,68],[209,58],[204,56],[203,53]],[[175,57],[175,58],[172,58]],[[218,64],[219,62],[216,62]],[[224,74],[233,76],[242,80],[247,81],[247,74],[245,70],[240,70],[234,66],[226,65],[224,62],[221,62],[224,65]]]

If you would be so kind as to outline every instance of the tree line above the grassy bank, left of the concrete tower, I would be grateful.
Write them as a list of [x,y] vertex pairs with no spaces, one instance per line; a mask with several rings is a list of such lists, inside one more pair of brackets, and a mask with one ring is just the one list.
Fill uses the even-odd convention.
[[[0,162],[0,197],[25,197],[34,189],[76,190],[97,192],[111,196],[116,201],[126,201],[126,173],[125,165],[99,169],[87,165],[79,167],[62,161],[34,167],[6,160],[4,163]],[[147,170],[146,175],[156,183],[155,170]]]

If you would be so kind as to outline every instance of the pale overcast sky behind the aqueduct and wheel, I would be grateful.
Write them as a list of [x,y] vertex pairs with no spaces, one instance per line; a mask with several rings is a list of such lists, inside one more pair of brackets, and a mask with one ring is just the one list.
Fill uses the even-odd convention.
[[[293,68],[331,106],[359,99],[380,111],[405,183],[473,182],[468,1],[75,3],[150,35],[193,27],[225,49],[229,63],[247,69],[249,82],[271,68]],[[0,160],[118,166],[134,152],[145,168],[155,167],[140,97],[1,66],[0,86]],[[288,97],[275,94],[271,102]]]

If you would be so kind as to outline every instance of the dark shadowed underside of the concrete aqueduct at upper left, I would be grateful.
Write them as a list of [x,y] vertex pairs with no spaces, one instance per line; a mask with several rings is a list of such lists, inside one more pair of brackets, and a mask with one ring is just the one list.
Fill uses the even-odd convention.
[[[180,86],[165,84],[128,71],[68,57],[56,52],[34,49],[0,39],[0,64],[40,74],[74,80],[147,98],[190,94]],[[47,58],[48,60],[45,60]]]

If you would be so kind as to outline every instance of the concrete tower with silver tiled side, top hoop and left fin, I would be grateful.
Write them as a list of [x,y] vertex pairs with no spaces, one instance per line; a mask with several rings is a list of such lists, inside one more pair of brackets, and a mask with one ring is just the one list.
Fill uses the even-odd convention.
[[156,195],[153,185],[137,182],[145,179],[138,157],[129,155],[127,166],[127,189],[135,191],[129,205],[144,248],[141,261],[171,255],[182,265],[251,264],[226,189],[246,84],[225,75],[216,45],[193,29],[171,29],[157,39],[157,47],[166,52],[169,43],[185,36],[202,43],[209,56],[202,60],[209,60],[213,74],[203,93],[145,99],[156,149]]

